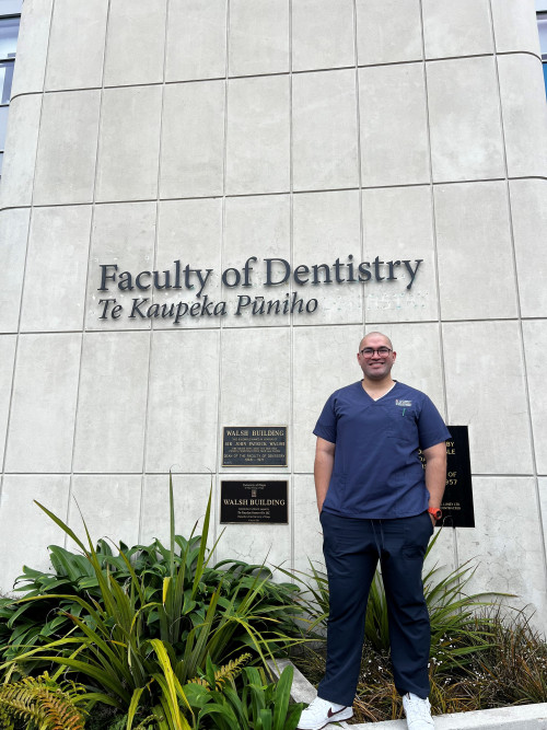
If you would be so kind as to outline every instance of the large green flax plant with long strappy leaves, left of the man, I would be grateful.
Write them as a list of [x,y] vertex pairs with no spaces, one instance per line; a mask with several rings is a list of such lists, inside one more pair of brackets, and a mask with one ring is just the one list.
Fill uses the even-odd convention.
[[[106,560],[104,569],[85,523],[86,544],[61,519],[36,503],[74,541],[92,566],[91,580],[93,584],[96,581],[100,600],[92,594],[82,598],[48,593],[49,600],[70,601],[78,606],[78,611],[60,612],[73,628],[45,646],[18,653],[0,665],[0,672],[24,668],[26,662],[58,664],[77,673],[78,679],[89,685],[90,703],[112,705],[128,711],[132,718],[140,706],[161,707],[161,722],[166,725],[161,725],[159,719],[158,727],[186,730],[190,726],[185,718],[191,710],[185,702],[183,686],[203,671],[208,658],[221,664],[233,658],[241,647],[248,647],[256,659],[266,664],[266,658],[272,658],[279,647],[287,649],[299,641],[280,626],[301,609],[295,609],[293,601],[276,606],[264,602],[264,596],[268,599],[279,590],[269,587],[270,573],[264,566],[253,571],[248,566],[237,570],[237,566],[231,565],[226,571],[217,566],[216,582],[210,582],[210,576],[206,582],[206,570],[217,545],[208,551],[211,494],[199,540],[194,538],[193,533],[188,541],[177,541],[170,477],[171,540],[168,554],[164,556],[167,569],[161,581],[160,596],[156,589],[150,590],[147,584],[147,571],[139,578],[124,552],[117,557],[125,566],[127,578],[120,580],[113,575],[110,560]],[[224,582],[228,591],[224,591]],[[31,595],[19,603],[43,600],[44,596]],[[149,628],[154,625],[159,626],[159,638],[150,635]],[[182,707],[178,714],[175,705]]]

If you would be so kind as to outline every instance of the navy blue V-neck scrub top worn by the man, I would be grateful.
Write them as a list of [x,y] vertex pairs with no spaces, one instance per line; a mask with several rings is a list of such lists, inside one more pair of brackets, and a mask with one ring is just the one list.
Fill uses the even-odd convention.
[[451,434],[424,393],[397,381],[373,401],[358,381],[333,393],[313,432],[336,444],[326,512],[389,519],[428,509],[418,449]]

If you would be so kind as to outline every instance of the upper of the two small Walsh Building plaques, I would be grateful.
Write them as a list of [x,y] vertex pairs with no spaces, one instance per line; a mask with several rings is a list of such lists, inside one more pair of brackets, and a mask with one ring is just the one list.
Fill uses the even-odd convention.
[[224,426],[222,466],[287,466],[287,426]]

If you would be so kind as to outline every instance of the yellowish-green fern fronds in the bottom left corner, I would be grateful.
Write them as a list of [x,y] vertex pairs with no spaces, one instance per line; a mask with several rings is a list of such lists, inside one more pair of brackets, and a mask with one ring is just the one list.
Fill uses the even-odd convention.
[[14,719],[40,730],[84,730],[84,710],[78,703],[85,692],[74,682],[57,683],[47,672],[25,676],[0,687],[0,719],[9,730]]

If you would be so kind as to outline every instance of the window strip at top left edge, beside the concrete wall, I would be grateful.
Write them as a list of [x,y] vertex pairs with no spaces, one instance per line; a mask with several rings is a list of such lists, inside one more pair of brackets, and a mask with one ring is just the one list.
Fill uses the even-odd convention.
[[0,0],[0,177],[22,0]]

